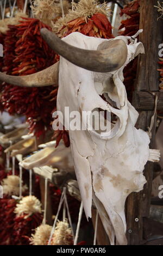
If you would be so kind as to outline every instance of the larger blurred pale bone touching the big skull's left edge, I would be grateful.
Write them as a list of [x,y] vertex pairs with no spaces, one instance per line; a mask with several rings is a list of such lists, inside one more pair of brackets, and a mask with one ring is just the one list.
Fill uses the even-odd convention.
[[52,166],[61,170],[74,170],[71,149],[61,143],[58,148],[46,147],[19,163],[25,169]]

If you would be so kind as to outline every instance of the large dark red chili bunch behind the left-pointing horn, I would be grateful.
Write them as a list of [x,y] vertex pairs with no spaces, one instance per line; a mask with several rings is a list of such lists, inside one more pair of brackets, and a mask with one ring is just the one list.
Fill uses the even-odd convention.
[[[9,26],[8,35],[11,42],[12,37],[16,35],[16,42],[14,36],[12,44],[12,54],[9,51],[12,60],[11,57],[8,58],[6,50],[9,45],[5,45],[5,59],[6,62],[10,62],[10,65],[7,62],[4,71],[16,76],[33,74],[55,63],[55,53],[40,35],[41,28],[50,28],[37,19],[22,19],[23,21],[20,21],[18,25]],[[10,114],[26,115],[30,132],[34,132],[39,137],[51,127],[51,111],[54,106],[54,102],[51,101],[52,90],[51,86],[20,88],[4,83],[2,88],[3,106]]]

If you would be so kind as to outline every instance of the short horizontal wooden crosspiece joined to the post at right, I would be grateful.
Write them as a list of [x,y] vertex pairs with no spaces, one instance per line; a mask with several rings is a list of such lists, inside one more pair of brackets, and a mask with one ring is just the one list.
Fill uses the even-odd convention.
[[[154,92],[158,96],[157,110],[163,110],[163,92]],[[150,92],[134,92],[133,105],[137,110],[153,111],[155,96]]]

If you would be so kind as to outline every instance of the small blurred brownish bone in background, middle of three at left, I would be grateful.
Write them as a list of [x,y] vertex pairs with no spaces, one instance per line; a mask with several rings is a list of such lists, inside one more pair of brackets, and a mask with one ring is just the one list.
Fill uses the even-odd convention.
[[11,156],[16,156],[18,154],[26,155],[37,150],[36,137],[22,139],[21,141],[11,145],[9,148],[4,150],[4,153],[11,152]]

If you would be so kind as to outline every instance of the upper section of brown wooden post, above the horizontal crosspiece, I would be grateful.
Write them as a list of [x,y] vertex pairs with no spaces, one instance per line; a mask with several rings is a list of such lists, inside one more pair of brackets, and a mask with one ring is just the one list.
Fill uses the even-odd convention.
[[158,0],[140,0],[140,29],[143,32],[139,39],[145,47],[145,54],[139,55],[136,89],[139,91],[159,90],[159,44],[162,43],[162,20],[158,17]]

